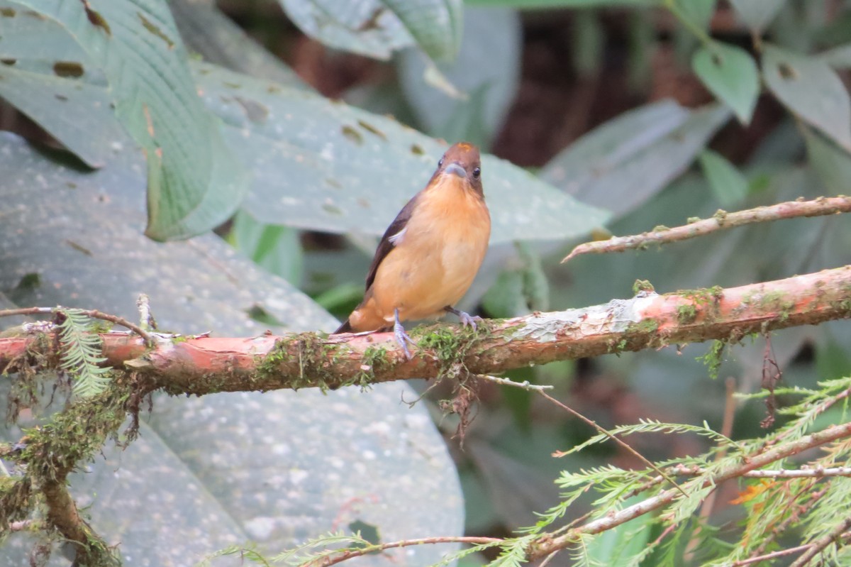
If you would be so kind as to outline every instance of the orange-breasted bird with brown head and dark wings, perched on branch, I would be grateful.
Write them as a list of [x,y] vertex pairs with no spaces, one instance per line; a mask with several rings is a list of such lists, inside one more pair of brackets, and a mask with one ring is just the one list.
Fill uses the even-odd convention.
[[411,341],[402,322],[447,312],[475,328],[454,308],[482,265],[490,238],[478,148],[460,142],[437,162],[426,188],[387,228],[367,274],[363,301],[336,333],[393,329],[405,355]]

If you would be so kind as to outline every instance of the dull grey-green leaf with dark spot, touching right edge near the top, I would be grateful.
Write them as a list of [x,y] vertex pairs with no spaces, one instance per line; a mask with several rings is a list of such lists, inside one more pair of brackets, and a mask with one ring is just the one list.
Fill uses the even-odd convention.
[[851,100],[825,61],[767,44],[762,77],[790,112],[851,151]]

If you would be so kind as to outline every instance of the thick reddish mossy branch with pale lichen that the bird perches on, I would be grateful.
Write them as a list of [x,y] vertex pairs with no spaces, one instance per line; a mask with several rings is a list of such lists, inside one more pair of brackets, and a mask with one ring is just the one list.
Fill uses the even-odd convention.
[[[175,335],[171,340],[152,335],[157,347],[147,352],[133,336],[107,333],[101,338],[106,364],[146,375],[148,391],[202,395],[434,378],[452,364],[493,375],[554,360],[713,339],[739,341],[751,333],[848,317],[851,266],[843,266],[738,288],[643,292],[585,309],[493,320],[477,332],[448,325],[413,329],[420,348],[412,360],[391,333]],[[53,345],[37,336],[0,339],[0,371],[25,364],[27,349],[43,352]]]

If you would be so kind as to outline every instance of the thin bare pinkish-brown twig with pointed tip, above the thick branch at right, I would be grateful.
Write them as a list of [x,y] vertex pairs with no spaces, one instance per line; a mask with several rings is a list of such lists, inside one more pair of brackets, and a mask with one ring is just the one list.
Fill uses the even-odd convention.
[[724,210],[709,219],[689,222],[688,225],[674,228],[661,228],[642,234],[614,237],[608,240],[580,244],[565,256],[562,263],[584,254],[605,254],[608,252],[623,252],[631,249],[645,249],[650,244],[663,244],[696,238],[734,226],[745,226],[755,222],[780,221],[801,216],[836,215],[851,212],[849,197],[820,197],[813,201],[787,201],[768,207],[740,210],[728,213]]

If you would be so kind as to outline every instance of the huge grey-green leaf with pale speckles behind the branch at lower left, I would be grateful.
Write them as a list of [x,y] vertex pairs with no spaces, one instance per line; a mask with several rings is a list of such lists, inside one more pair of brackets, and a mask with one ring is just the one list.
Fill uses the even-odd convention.
[[[0,135],[0,194],[16,211],[0,222],[0,294],[18,306],[85,306],[132,320],[146,292],[160,328],[184,333],[263,333],[268,326],[249,311],[288,330],[334,328],[306,295],[219,238],[145,238],[145,168],[127,148],[125,139],[106,167],[84,173]],[[357,519],[385,541],[433,535],[435,526],[460,535],[463,504],[443,441],[426,409],[400,396],[415,394],[397,383],[327,396],[157,397],[145,417],[151,428],[127,450],[107,444],[106,458],[97,455],[71,488],[125,565],[191,565],[248,541],[273,553]],[[20,432],[3,426],[0,437]],[[431,564],[443,551],[377,560]],[[0,564],[26,564],[16,537],[0,547]]]

